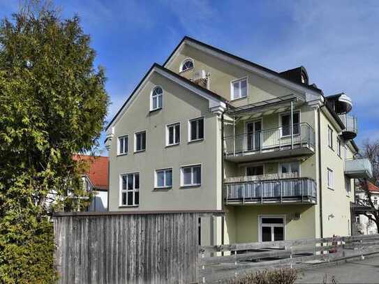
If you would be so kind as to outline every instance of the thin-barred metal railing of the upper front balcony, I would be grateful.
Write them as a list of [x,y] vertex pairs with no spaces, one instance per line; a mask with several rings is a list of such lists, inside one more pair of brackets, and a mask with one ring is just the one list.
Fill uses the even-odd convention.
[[266,150],[281,151],[315,146],[315,132],[309,124],[294,124],[293,135],[291,130],[290,126],[282,126],[225,137],[225,154],[241,155],[246,152],[259,153]]

